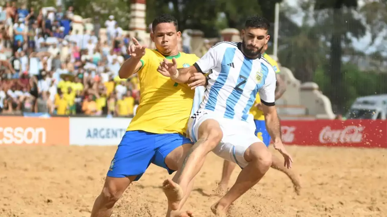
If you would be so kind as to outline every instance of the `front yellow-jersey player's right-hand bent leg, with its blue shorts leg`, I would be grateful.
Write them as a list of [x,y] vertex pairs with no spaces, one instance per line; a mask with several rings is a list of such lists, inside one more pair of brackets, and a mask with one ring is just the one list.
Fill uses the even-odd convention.
[[[173,181],[177,181],[180,175],[180,169],[185,156],[187,156],[188,151],[192,147],[192,142],[190,139],[180,135],[180,134],[163,134],[158,137],[156,144],[159,145],[156,151],[156,157],[153,161],[154,164],[164,167],[168,170],[170,174],[177,170],[175,176],[173,176]],[[187,194],[182,196],[181,203],[177,210],[172,210],[168,204],[168,211],[166,217],[191,217],[192,212],[190,211],[181,211],[184,203],[187,201],[189,193],[192,190],[194,185],[194,180],[192,180],[187,187]]]

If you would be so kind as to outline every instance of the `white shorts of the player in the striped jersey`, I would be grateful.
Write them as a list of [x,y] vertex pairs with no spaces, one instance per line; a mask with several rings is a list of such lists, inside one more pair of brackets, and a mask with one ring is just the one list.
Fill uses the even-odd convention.
[[215,112],[199,109],[188,120],[188,134],[192,141],[198,140],[199,126],[207,119],[216,120],[223,131],[223,139],[212,152],[223,159],[238,164],[241,168],[247,166],[248,163],[244,158],[246,149],[255,142],[262,142],[255,136],[253,117],[249,117],[246,122],[224,118]]

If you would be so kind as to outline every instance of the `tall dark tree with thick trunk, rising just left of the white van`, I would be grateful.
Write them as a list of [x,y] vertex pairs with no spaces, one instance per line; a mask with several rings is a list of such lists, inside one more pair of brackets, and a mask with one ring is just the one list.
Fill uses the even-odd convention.
[[[349,36],[360,38],[365,34],[365,26],[360,18],[354,17],[351,8],[358,6],[353,0],[315,0],[314,9],[322,22],[318,23],[320,29],[327,31],[327,39],[330,44],[329,64],[327,75],[330,77],[332,87],[326,92],[327,96],[342,112],[345,105],[344,72],[341,70],[344,44],[348,44]],[[322,17],[322,14],[325,17]],[[328,16],[326,16],[328,14]]]

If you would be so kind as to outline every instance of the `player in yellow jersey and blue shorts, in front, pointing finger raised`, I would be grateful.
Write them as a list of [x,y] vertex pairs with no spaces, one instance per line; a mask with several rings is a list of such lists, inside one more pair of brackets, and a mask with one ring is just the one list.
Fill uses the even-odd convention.
[[[204,75],[197,73],[192,83],[178,84],[158,73],[164,58],[175,58],[179,67],[189,67],[199,58],[178,51],[177,20],[161,15],[152,23],[151,39],[157,49],[134,44],[128,48],[131,57],[120,68],[120,78],[138,73],[140,104],[111,161],[101,194],[94,202],[91,217],[109,217],[113,206],[132,181],[144,174],[149,164],[165,168],[170,174],[179,170],[192,142],[185,136],[192,110],[195,87],[205,85]],[[177,179],[176,175],[174,177]],[[190,187],[192,188],[190,183]],[[187,194],[188,197],[188,194]],[[186,200],[186,198],[184,198]],[[181,209],[181,207],[180,207]],[[190,217],[191,212],[171,211],[167,217]]]

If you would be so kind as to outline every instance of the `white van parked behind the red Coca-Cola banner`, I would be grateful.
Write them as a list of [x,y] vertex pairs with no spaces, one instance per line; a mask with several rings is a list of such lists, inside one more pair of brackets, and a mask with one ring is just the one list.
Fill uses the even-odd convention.
[[387,94],[358,97],[349,109],[346,119],[385,120]]

